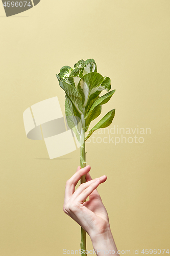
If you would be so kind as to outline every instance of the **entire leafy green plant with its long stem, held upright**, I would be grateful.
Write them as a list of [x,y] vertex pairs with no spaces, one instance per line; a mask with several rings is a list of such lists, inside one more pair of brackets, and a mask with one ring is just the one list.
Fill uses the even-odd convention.
[[[115,109],[109,111],[95,126],[88,132],[89,125],[102,112],[102,104],[107,103],[115,90],[110,91],[111,81],[109,77],[103,77],[97,72],[94,59],[79,60],[74,68],[64,66],[56,75],[60,87],[65,91],[65,115],[67,124],[74,131],[80,143],[80,165],[86,166],[85,142],[98,129],[105,128],[112,123]],[[100,93],[106,90],[103,96]],[[88,135],[85,136],[85,133]],[[81,183],[86,182],[85,175]],[[81,228],[81,249],[86,251],[86,232]],[[86,255],[82,254],[82,255]]]

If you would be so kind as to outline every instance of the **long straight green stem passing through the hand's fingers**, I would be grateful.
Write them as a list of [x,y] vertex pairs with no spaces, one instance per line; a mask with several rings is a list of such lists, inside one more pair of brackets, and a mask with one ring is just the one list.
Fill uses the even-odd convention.
[[[85,120],[84,120],[84,115],[81,115],[81,122],[82,122],[82,130],[81,130],[81,136],[83,140],[83,144],[80,146],[80,165],[81,168],[84,168],[86,166],[86,153],[85,153],[85,132],[84,132],[84,127],[85,127]],[[81,184],[86,182],[86,176],[83,175],[81,177]],[[86,254],[86,231],[81,227],[81,243],[80,243],[80,248],[82,249],[82,255],[87,256]]]

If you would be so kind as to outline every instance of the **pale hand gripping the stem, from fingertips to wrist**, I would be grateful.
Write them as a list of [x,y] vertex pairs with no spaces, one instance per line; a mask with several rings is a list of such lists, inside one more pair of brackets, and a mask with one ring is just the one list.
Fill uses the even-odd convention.
[[[82,169],[79,166],[77,172],[66,182],[63,210],[93,237],[108,231],[110,225],[106,208],[96,189],[107,177],[104,175],[92,180],[89,171],[89,165]],[[83,175],[86,175],[86,182],[75,191],[75,186]],[[84,202],[87,197],[89,200]]]

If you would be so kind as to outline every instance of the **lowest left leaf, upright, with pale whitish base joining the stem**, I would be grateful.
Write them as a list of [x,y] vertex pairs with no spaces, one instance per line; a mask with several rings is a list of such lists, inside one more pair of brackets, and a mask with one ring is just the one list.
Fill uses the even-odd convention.
[[80,145],[82,145],[80,114],[67,96],[65,96],[65,115],[69,128],[75,133]]

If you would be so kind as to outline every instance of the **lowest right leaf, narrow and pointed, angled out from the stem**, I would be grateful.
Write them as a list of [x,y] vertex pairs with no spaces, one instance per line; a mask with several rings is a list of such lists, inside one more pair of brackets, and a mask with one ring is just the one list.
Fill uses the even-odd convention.
[[92,133],[98,129],[101,128],[105,128],[107,126],[109,126],[112,121],[113,118],[115,116],[115,109],[109,111],[89,132],[89,134],[87,135],[87,137],[85,138],[85,141],[92,135]]

